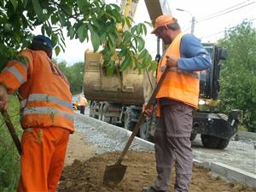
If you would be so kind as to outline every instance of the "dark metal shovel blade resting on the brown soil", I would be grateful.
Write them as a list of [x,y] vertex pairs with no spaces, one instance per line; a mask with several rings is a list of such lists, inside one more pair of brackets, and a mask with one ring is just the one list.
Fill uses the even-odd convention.
[[123,180],[125,176],[127,166],[122,164],[114,164],[106,166],[104,177],[103,177],[103,183],[119,183]]

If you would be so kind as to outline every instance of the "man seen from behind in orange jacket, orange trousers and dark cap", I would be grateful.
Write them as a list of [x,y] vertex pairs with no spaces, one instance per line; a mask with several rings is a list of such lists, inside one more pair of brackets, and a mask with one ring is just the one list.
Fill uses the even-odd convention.
[[0,109],[8,94],[20,94],[21,174],[18,192],[55,192],[67,142],[73,133],[72,95],[66,77],[51,61],[52,43],[38,35],[0,74]]

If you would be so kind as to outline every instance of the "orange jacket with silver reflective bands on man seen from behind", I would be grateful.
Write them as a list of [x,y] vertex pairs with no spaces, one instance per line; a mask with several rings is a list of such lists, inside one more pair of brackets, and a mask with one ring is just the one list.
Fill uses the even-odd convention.
[[72,95],[66,77],[41,50],[21,52],[28,63],[9,61],[0,83],[19,89],[22,128],[59,126],[74,131]]

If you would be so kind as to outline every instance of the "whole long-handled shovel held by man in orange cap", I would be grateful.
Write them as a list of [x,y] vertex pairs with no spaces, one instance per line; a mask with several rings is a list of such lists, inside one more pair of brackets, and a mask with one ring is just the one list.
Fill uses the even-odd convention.
[[[158,91],[160,90],[160,85],[166,78],[166,74],[168,73],[170,67],[166,67],[164,73],[162,73],[160,80],[158,84],[156,84],[156,87],[154,88],[154,91],[152,95],[150,96],[150,99],[148,101],[148,104],[146,108],[150,108],[154,102],[154,98],[157,95]],[[140,118],[137,121],[137,125],[133,129],[131,136],[129,137],[127,143],[125,144],[125,148],[122,151],[122,154],[119,156],[117,162],[113,165],[107,165],[105,168],[104,176],[103,176],[103,183],[108,184],[108,183],[119,183],[120,181],[123,180],[125,176],[125,171],[127,166],[122,165],[122,161],[125,157],[125,154],[127,153],[134,137],[137,135],[137,131],[139,131],[140,126],[143,124],[145,121],[146,116],[141,113]]]

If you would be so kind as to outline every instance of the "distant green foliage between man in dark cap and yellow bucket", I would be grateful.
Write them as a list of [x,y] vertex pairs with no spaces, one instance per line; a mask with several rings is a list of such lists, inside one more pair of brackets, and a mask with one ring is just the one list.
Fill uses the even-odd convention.
[[72,66],[67,67],[65,61],[58,63],[61,72],[65,74],[70,84],[70,89],[73,95],[82,92],[83,79],[84,79],[84,62],[74,63]]

